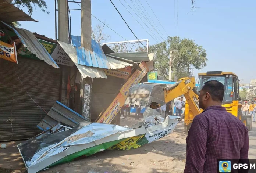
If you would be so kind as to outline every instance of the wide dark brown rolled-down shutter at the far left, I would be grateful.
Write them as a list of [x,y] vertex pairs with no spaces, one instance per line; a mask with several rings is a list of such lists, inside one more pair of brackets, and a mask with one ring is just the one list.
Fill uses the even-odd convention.
[[0,59],[0,141],[42,132],[36,125],[60,98],[60,69],[27,58],[18,58],[18,63]]

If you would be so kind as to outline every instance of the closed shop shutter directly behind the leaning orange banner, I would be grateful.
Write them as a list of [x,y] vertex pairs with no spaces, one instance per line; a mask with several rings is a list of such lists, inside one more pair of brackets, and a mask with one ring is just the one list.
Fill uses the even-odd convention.
[[103,109],[109,107],[116,97],[115,94],[121,89],[125,79],[114,76],[104,78],[93,78],[92,82],[92,104],[91,120],[95,121]]

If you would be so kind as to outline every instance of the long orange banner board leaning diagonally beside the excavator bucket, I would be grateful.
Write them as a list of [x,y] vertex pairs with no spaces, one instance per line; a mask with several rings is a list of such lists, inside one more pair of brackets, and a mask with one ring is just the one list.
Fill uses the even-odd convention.
[[115,97],[114,101],[110,104],[110,106],[106,109],[106,111],[102,114],[102,116],[97,120],[97,123],[105,123],[110,124],[111,121],[115,118],[117,113],[120,111],[121,107],[125,103],[125,99],[128,96],[129,90],[135,84],[138,84],[142,78],[146,75],[148,68],[145,62],[142,62],[139,65],[142,71],[136,70],[132,76],[127,80],[124,86],[121,88],[120,93],[118,93],[117,97]]

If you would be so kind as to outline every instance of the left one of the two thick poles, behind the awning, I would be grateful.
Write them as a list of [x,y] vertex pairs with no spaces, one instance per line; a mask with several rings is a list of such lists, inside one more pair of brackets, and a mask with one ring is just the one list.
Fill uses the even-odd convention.
[[[68,43],[68,1],[58,0],[58,40]],[[69,67],[61,67],[61,103],[68,106],[67,84]]]

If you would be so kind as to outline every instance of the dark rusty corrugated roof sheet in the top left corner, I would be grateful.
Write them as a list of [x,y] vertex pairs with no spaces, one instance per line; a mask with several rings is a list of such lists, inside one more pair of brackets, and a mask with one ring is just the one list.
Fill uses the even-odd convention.
[[11,0],[0,0],[0,20],[3,22],[33,21],[38,22],[25,12],[10,4]]

